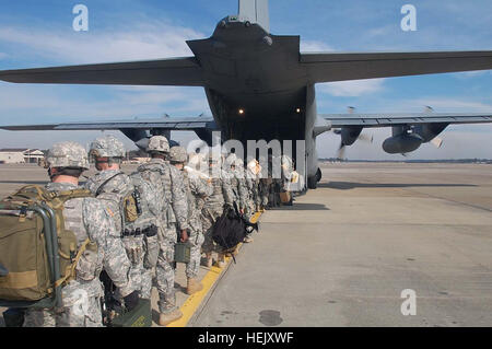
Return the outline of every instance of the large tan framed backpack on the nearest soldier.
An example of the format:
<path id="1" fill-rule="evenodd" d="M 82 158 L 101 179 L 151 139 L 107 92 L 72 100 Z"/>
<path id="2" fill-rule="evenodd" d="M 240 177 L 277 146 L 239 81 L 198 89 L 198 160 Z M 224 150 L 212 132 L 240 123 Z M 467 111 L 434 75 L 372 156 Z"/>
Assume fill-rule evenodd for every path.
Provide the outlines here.
<path id="1" fill-rule="evenodd" d="M 61 287 L 75 277 L 80 257 L 97 251 L 89 239 L 78 248 L 65 229 L 65 202 L 85 197 L 91 191 L 28 185 L 0 201 L 0 306 L 61 306 Z"/>

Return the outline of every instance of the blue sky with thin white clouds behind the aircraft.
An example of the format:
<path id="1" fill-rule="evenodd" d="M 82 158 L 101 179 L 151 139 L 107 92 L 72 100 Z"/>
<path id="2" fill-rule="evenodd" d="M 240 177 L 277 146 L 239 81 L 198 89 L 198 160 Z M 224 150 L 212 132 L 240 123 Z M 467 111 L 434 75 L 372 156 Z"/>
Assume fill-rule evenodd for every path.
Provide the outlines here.
<path id="1" fill-rule="evenodd" d="M 90 31 L 74 32 L 72 8 L 89 8 Z M 417 32 L 402 32 L 400 9 L 417 8 Z M 189 56 L 186 39 L 208 37 L 218 21 L 237 12 L 236 0 L 0 0 L 0 69 Z M 304 51 L 415 51 L 492 49 L 490 0 L 270 0 L 271 32 L 301 35 Z M 317 85 L 319 113 L 492 112 L 492 72 L 376 79 Z M 0 124 L 96 120 L 210 114 L 202 89 L 16 85 L 0 82 Z M 425 144 L 412 159 L 492 158 L 492 126 L 452 126 L 444 146 Z M 365 130 L 351 159 L 400 159 L 380 149 L 389 129 Z M 47 148 L 54 140 L 89 142 L 98 132 L 0 131 L 0 147 Z M 119 135 L 119 133 L 116 133 Z M 122 135 L 120 136 L 122 137 Z M 190 133 L 174 138 L 189 140 Z M 323 156 L 339 138 L 318 139 Z M 131 147 L 131 142 L 127 141 Z"/>

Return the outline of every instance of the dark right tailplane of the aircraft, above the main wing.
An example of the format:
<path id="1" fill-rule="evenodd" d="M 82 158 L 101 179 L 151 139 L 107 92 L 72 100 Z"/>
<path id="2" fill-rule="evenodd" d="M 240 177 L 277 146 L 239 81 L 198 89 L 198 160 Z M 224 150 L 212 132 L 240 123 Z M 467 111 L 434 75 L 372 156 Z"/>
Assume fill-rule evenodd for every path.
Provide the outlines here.
<path id="1" fill-rule="evenodd" d="M 492 51 L 301 54 L 309 82 L 492 69 Z"/>

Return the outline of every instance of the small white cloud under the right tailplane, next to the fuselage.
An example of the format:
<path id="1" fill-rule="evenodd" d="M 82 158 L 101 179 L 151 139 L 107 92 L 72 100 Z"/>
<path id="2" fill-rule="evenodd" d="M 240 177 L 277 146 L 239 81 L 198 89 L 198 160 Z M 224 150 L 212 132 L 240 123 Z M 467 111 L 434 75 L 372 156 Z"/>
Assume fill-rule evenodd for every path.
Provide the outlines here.
<path id="1" fill-rule="evenodd" d="M 383 91 L 385 79 L 338 81 L 319 85 L 319 91 L 337 97 L 356 97 Z"/>

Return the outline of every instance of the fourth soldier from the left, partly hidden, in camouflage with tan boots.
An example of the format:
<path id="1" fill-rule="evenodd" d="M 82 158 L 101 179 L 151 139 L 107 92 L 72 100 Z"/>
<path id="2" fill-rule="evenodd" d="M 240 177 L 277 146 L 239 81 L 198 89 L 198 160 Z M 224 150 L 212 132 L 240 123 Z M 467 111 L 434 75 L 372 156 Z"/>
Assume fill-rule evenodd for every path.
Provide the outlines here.
<path id="1" fill-rule="evenodd" d="M 203 243 L 203 228 L 201 224 L 201 210 L 207 197 L 212 195 L 212 181 L 201 178 L 196 172 L 184 171 L 188 161 L 188 154 L 183 147 L 173 147 L 169 152 L 171 164 L 183 172 L 188 200 L 188 224 L 190 235 L 188 243 L 191 245 L 190 261 L 186 266 L 187 287 L 186 293 L 194 294 L 203 289 L 197 280 L 200 267 L 201 245 Z M 185 242 L 181 239 L 181 242 Z"/>

